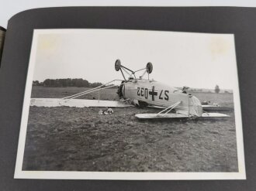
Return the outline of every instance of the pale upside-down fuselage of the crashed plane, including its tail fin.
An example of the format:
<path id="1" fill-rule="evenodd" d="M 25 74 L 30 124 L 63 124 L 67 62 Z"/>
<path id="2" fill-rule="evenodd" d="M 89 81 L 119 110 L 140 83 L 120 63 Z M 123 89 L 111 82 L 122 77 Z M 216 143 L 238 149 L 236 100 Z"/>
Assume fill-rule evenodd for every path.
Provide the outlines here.
<path id="1" fill-rule="evenodd" d="M 176 111 L 188 115 L 202 115 L 202 105 L 198 98 L 154 80 L 133 79 L 124 82 L 119 88 L 119 95 L 124 99 L 130 99 L 137 106 L 170 107 L 181 101 L 181 104 L 175 107 Z"/>

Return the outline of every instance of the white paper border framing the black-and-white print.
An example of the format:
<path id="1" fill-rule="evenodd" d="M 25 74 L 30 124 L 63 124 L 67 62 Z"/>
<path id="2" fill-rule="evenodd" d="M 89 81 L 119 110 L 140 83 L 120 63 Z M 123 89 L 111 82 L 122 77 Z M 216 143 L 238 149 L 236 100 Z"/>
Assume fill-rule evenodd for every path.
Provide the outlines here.
<path id="1" fill-rule="evenodd" d="M 24 171 L 22 162 L 26 143 L 26 130 L 29 118 L 29 104 L 33 84 L 33 72 L 36 64 L 36 47 L 40 34 L 53 33 L 81 33 L 84 30 L 119 30 L 124 29 L 34 29 L 31 46 L 29 67 L 26 77 L 26 89 L 22 107 L 21 127 L 19 131 L 19 145 L 16 158 L 15 179 L 126 179 L 126 180 L 193 180 L 193 179 L 246 179 L 244 163 L 243 129 L 240 111 L 240 94 L 237 73 L 236 88 L 234 94 L 234 114 L 237 136 L 237 163 L 238 172 L 75 172 L 75 171 Z M 127 29 L 125 29 L 127 30 Z M 150 31 L 150 30 L 147 30 Z M 161 31 L 156 31 L 161 32 Z M 164 31 L 165 32 L 165 31 Z M 195 32 L 185 32 L 195 33 Z M 200 32 L 196 32 L 200 33 Z M 207 33 L 212 34 L 212 33 Z M 216 34 L 216 33 L 213 33 Z M 220 34 L 220 33 L 218 33 Z M 227 34 L 225 34 L 227 35 Z M 234 34 L 228 34 L 234 37 Z M 234 41 L 235 43 L 235 41 Z M 235 46 L 235 44 L 234 44 Z"/>

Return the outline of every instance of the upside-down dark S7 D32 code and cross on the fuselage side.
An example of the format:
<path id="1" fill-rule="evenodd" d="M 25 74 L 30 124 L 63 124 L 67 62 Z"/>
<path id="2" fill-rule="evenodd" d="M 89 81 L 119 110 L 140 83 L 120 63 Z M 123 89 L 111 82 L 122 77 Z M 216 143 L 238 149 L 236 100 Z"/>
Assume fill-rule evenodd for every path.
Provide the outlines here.
<path id="1" fill-rule="evenodd" d="M 158 96 L 157 90 L 154 90 L 154 86 L 152 87 L 152 90 L 148 90 L 147 88 L 144 87 L 137 87 L 137 95 L 140 97 L 145 97 L 145 99 L 150 96 L 152 98 L 152 101 L 154 101 L 154 98 L 158 96 L 160 100 L 169 100 L 169 90 L 161 90 L 160 94 Z"/>

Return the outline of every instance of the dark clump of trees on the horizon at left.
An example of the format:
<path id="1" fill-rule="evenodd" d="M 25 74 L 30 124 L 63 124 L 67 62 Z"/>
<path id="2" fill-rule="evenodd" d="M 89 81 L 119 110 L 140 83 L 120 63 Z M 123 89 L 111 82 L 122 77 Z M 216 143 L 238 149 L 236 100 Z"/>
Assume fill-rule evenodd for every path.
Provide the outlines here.
<path id="1" fill-rule="evenodd" d="M 33 86 L 43 87 L 99 87 L 101 85 L 102 83 L 90 83 L 88 80 L 84 80 L 82 78 L 47 79 L 43 82 L 38 80 L 33 81 Z"/>

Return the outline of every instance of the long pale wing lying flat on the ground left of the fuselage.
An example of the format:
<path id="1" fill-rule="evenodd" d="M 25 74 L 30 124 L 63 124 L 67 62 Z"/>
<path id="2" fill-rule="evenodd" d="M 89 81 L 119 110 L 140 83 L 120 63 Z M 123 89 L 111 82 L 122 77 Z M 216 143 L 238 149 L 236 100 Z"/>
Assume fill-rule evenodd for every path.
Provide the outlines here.
<path id="1" fill-rule="evenodd" d="M 31 98 L 30 106 L 37 107 L 133 107 L 121 101 L 102 101 L 102 100 L 85 100 L 85 99 L 68 99 L 61 98 Z"/>

